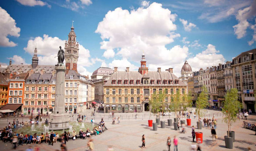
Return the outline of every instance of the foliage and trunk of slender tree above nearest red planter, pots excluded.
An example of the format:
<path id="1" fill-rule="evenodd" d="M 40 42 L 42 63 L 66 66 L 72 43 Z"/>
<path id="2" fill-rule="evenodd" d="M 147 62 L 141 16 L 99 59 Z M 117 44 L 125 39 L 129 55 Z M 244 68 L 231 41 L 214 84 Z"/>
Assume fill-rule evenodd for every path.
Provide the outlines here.
<path id="1" fill-rule="evenodd" d="M 208 94 L 207 88 L 205 86 L 202 87 L 202 91 L 197 98 L 197 115 L 198 115 L 198 122 L 200 122 L 201 116 L 203 116 L 203 109 L 208 105 Z"/>

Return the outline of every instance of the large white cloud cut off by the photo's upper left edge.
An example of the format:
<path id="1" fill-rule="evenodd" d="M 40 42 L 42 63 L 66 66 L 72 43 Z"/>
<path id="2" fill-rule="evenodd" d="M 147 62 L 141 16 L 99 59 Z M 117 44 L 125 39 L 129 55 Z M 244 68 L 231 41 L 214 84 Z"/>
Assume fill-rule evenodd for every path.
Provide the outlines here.
<path id="1" fill-rule="evenodd" d="M 4 47 L 14 47 L 15 44 L 12 41 L 9 41 L 7 36 L 20 36 L 20 28 L 16 27 L 15 20 L 0 7 L 0 46 Z"/>

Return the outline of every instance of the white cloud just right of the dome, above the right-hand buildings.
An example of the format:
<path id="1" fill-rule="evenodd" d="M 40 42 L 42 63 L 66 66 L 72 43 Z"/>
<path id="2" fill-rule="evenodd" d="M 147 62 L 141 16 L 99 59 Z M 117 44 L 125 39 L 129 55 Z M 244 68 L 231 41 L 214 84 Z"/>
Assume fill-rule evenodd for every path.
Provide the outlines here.
<path id="1" fill-rule="evenodd" d="M 193 71 L 225 62 L 223 55 L 217 53 L 219 53 L 219 51 L 216 50 L 215 46 L 208 44 L 206 50 L 198 53 L 195 57 L 187 59 L 187 62 L 193 68 Z"/>

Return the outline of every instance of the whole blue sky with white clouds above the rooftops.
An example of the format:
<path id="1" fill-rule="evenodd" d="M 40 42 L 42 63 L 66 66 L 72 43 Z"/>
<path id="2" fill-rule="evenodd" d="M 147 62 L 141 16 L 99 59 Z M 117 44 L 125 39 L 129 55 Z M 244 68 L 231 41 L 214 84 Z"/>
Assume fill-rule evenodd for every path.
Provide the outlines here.
<path id="1" fill-rule="evenodd" d="M 78 71 L 99 66 L 137 70 L 145 53 L 150 70 L 187 59 L 194 71 L 256 48 L 255 0 L 8 0 L 0 1 L 0 63 L 55 64 L 74 21 Z M 8 38 L 8 39 L 7 39 Z"/>

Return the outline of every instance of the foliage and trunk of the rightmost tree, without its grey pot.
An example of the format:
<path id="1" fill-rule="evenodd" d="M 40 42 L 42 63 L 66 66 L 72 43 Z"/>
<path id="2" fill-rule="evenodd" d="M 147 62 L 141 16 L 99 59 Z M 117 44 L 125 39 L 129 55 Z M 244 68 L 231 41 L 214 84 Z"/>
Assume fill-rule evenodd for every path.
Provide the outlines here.
<path id="1" fill-rule="evenodd" d="M 231 125 L 236 121 L 236 114 L 239 113 L 242 104 L 238 101 L 238 91 L 236 88 L 230 89 L 225 95 L 222 113 L 225 115 L 224 122 L 227 123 L 228 131 L 231 131 Z M 229 137 L 229 133 L 228 133 Z"/>

